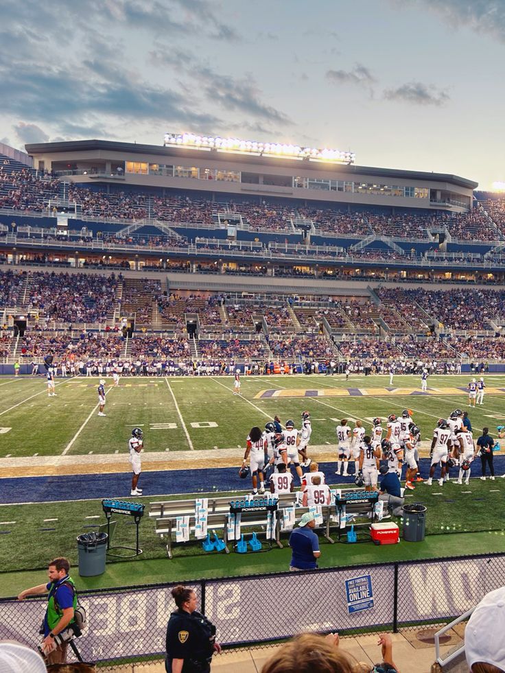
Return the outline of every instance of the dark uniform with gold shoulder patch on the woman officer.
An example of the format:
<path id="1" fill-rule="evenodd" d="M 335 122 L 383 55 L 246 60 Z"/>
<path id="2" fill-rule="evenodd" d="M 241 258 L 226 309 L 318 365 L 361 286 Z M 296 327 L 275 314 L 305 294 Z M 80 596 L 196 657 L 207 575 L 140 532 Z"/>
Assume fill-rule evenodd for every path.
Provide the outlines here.
<path id="1" fill-rule="evenodd" d="M 207 617 L 176 610 L 167 624 L 167 672 L 172 671 L 172 659 L 184 659 L 183 673 L 209 673 L 214 643 L 215 626 Z"/>

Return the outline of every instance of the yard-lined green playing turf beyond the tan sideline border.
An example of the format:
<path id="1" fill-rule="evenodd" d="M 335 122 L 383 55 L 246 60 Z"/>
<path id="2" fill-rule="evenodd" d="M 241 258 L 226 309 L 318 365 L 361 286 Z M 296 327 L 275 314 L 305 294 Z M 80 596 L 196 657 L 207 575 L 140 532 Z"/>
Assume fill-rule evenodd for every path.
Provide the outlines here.
<path id="1" fill-rule="evenodd" d="M 279 414 L 281 420 L 294 418 L 307 409 L 312 414 L 312 444 L 335 443 L 335 425 L 340 418 L 385 418 L 391 412 L 410 408 L 421 427 L 424 440 L 441 416 L 447 417 L 456 407 L 467 409 L 465 392 L 468 376 L 431 377 L 430 397 L 402 394 L 402 390 L 419 390 L 419 377 L 397 376 L 394 387 L 386 390 L 386 376 L 344 377 L 244 377 L 242 397 L 233 396 L 231 377 L 202 379 L 121 379 L 119 388 L 107 387 L 106 418 L 99 418 L 96 379 L 59 380 L 58 397 L 48 399 L 44 379 L 28 377 L 0 382 L 0 422 L 2 456 L 61 456 L 100 454 L 124 451 L 129 429 L 141 425 L 147 451 L 187 449 L 223 449 L 244 446 L 250 427 Z M 488 388 L 505 385 L 505 376 L 486 376 Z M 373 394 L 357 397 L 267 397 L 257 398 L 264 390 L 281 395 L 292 391 L 331 389 L 369 390 Z M 380 390 L 379 394 L 376 391 Z M 384 392 L 382 392 L 384 391 Z M 451 392 L 451 394 L 446 394 Z M 484 425 L 495 429 L 505 421 L 504 396 L 487 394 L 481 408 L 471 410 L 476 432 Z"/>

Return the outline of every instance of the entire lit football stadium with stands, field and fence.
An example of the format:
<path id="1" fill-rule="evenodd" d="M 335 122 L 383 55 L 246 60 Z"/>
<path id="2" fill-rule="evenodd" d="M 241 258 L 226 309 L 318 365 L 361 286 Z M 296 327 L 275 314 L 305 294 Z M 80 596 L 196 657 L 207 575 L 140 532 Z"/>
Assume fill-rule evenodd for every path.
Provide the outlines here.
<path id="1" fill-rule="evenodd" d="M 279 143 L 166 134 L 159 146 L 0 149 L 0 526 L 21 552 L 14 560 L 9 544 L 1 550 L 3 632 L 24 619 L 7 597 L 30 585 L 56 548 L 76 565 L 76 536 L 108 530 L 105 574 L 84 571 L 79 585 L 91 613 L 105 601 L 117 617 L 107 634 L 97 619 L 80 639 L 88 661 L 158 670 L 169 588 L 180 581 L 198 588 L 218 624 L 235 657 L 226 670 L 242 665 L 233 662 L 244 646 L 301 630 L 338 628 L 351 642 L 386 629 L 410 647 L 423 633 L 424 663 L 411 671 L 457 649 L 457 627 L 436 652 L 433 634 L 469 611 L 482 587 L 500 585 L 505 484 L 482 480 L 479 460 L 466 487 L 458 466 L 438 487 L 438 473 L 432 488 L 422 481 L 438 418 L 469 409 L 475 439 L 484 427 L 497 438 L 504 420 L 504 202 L 467 178 L 361 167 L 349 152 Z M 49 371 L 56 382 L 46 399 Z M 477 379 L 485 394 L 475 407 Z M 347 418 L 368 433 L 379 417 L 387 432 L 388 417 L 405 408 L 420 429 L 419 482 L 406 503 L 425 506 L 426 536 L 404 541 L 406 519 L 384 511 L 403 539 L 376 546 L 366 512 L 346 520 L 333 504 L 362 493 L 358 461 L 340 475 L 335 428 Z M 229 528 L 230 501 L 249 488 L 238 471 L 251 427 L 277 417 L 285 432 L 291 418 L 301 428 L 304 414 L 307 451 L 332 494 L 317 512 L 323 554 L 310 581 L 324 595 L 365 578 L 373 610 L 351 611 L 340 589 L 324 611 L 318 601 L 290 603 L 299 594 L 284 572 L 292 523 L 279 513 L 269 534 L 261 489 L 248 497 L 259 498 L 263 515 L 242 508 L 242 534 Z M 134 488 L 131 497 L 133 427 L 144 438 L 143 494 Z M 500 442 L 495 449 L 500 477 Z M 279 496 L 279 512 L 296 504 L 298 520 L 307 508 L 293 475 L 295 493 Z M 109 515 L 134 515 L 131 502 L 145 507 L 134 547 L 124 517 L 108 528 L 103 499 Z M 198 536 L 197 503 L 209 508 L 209 537 Z M 354 524 L 364 544 L 349 545 Z M 248 556 L 235 553 L 244 537 Z M 253 540 L 270 554 L 253 554 Z M 473 571 L 478 579 L 464 589 Z M 255 606 L 258 575 L 268 595 L 287 597 L 286 622 Z M 143 622 L 144 610 L 156 624 Z M 28 628 L 21 641 L 34 646 Z"/>

